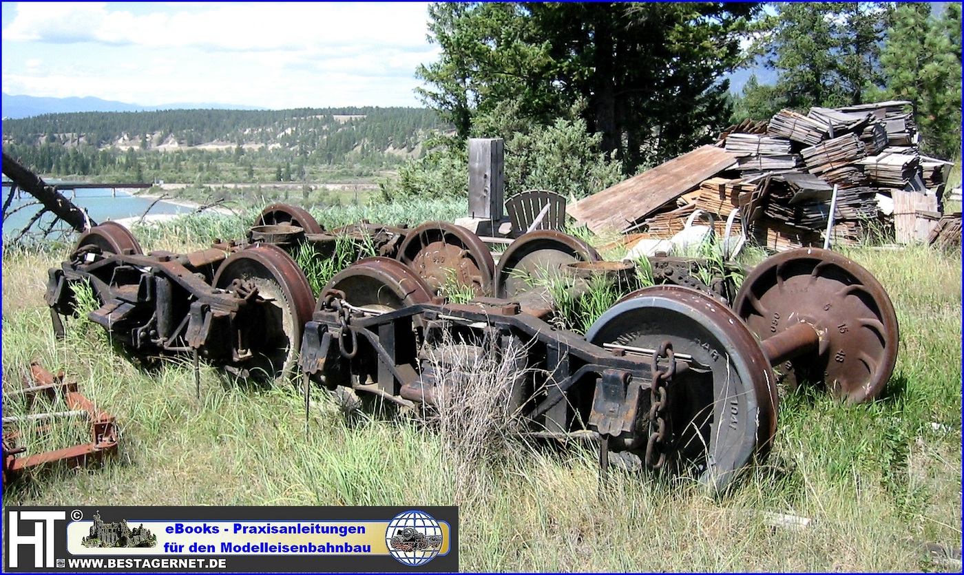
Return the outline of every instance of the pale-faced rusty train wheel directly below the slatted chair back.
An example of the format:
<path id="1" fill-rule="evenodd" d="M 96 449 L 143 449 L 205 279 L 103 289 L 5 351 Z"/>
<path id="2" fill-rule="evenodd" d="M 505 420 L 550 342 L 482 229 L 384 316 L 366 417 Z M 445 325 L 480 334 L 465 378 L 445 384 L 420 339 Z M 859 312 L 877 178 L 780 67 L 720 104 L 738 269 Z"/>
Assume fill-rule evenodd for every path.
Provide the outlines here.
<path id="1" fill-rule="evenodd" d="M 554 230 L 525 233 L 505 250 L 495 268 L 496 297 L 517 298 L 539 288 L 553 276 L 563 275 L 566 265 L 601 260 L 596 250 L 581 239 Z"/>

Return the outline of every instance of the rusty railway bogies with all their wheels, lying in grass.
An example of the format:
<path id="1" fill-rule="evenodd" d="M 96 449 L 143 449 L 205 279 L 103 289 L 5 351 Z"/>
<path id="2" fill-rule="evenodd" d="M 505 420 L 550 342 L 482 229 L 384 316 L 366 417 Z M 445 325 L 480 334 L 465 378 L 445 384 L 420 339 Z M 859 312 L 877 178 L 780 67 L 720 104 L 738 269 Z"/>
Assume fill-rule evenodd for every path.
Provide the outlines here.
<path id="1" fill-rule="evenodd" d="M 342 236 L 378 255 L 336 273 L 316 298 L 287 251 L 308 243 L 329 258 Z M 144 254 L 120 225 L 97 226 L 50 269 L 45 298 L 63 335 L 61 316 L 76 310 L 71 285 L 86 281 L 100 304 L 90 319 L 129 352 L 192 354 L 269 381 L 298 371 L 306 393 L 310 382 L 433 404 L 461 381 L 448 374 L 471 369 L 446 359 L 453 347 L 485 365 L 513 361 L 519 376 L 508 397 L 523 434 L 589 438 L 603 469 L 610 452 L 628 452 L 714 489 L 770 448 L 774 368 L 848 402 L 878 396 L 894 370 L 897 316 L 887 293 L 834 252 L 764 260 L 732 306 L 707 290 L 658 285 L 630 292 L 584 336 L 547 321 L 550 305 L 533 278 L 605 263 L 564 233 L 523 234 L 495 264 L 479 237 L 449 223 L 328 232 L 302 208 L 270 205 L 246 239 L 188 254 Z M 452 281 L 474 297 L 440 296 Z"/>

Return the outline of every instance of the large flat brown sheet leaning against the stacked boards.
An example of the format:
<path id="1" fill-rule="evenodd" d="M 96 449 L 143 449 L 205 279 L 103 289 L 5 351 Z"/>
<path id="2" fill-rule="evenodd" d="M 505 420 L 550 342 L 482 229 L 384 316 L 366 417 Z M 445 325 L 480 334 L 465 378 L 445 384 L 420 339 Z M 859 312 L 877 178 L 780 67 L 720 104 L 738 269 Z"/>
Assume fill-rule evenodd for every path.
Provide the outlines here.
<path id="1" fill-rule="evenodd" d="M 607 228 L 624 232 L 646 219 L 660 205 L 699 187 L 736 164 L 736 155 L 722 148 L 701 146 L 652 170 L 609 186 L 566 209 L 569 215 L 602 233 Z"/>

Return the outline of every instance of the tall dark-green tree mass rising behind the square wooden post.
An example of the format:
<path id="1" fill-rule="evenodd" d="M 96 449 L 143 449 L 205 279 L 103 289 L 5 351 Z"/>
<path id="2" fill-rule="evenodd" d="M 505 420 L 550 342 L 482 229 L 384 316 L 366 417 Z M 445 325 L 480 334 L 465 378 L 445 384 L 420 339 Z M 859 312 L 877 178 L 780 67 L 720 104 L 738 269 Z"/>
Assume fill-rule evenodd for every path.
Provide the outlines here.
<path id="1" fill-rule="evenodd" d="M 590 133 L 628 172 L 707 142 L 729 120 L 737 32 L 751 3 L 435 4 L 440 60 L 418 68 L 423 101 L 469 136 L 511 107 L 523 126 L 567 118 L 579 100 Z M 512 134 L 488 134 L 509 137 Z"/>

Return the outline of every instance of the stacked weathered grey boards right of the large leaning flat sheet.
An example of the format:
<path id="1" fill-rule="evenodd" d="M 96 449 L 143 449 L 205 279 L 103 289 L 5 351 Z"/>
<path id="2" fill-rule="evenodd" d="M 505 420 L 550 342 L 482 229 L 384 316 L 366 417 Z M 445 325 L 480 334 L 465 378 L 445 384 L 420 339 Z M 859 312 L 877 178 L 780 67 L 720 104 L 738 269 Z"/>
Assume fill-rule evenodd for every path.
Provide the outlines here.
<path id="1" fill-rule="evenodd" d="M 770 170 L 762 193 L 743 224 L 767 247 L 783 249 L 817 241 L 825 233 L 831 196 L 837 189 L 832 239 L 856 242 L 871 229 L 893 227 L 898 242 L 926 241 L 940 217 L 935 199 L 943 191 L 951 162 L 922 156 L 909 113 L 910 102 L 814 107 L 804 116 L 782 110 L 768 123 L 766 137 L 786 138 L 800 165 Z M 731 133 L 724 146 L 745 146 Z M 767 172 L 766 170 L 763 171 Z M 871 222 L 873 223 L 871 225 Z"/>

